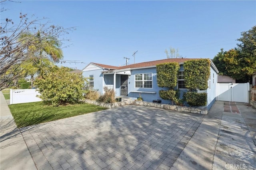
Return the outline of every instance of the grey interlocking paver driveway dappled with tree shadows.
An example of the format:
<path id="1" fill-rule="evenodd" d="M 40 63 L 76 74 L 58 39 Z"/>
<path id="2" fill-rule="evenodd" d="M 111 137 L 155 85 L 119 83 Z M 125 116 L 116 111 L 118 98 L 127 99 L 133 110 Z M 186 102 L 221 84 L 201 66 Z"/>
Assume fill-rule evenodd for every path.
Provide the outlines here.
<path id="1" fill-rule="evenodd" d="M 21 131 L 39 170 L 169 169 L 202 117 L 126 105 Z"/>

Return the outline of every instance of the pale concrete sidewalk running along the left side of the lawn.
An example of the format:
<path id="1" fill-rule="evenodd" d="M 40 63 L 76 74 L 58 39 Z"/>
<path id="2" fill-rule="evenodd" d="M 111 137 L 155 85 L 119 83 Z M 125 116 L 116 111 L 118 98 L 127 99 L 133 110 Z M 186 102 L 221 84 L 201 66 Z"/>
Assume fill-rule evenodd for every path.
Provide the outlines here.
<path id="1" fill-rule="evenodd" d="M 0 169 L 37 170 L 2 91 L 0 91 Z"/>

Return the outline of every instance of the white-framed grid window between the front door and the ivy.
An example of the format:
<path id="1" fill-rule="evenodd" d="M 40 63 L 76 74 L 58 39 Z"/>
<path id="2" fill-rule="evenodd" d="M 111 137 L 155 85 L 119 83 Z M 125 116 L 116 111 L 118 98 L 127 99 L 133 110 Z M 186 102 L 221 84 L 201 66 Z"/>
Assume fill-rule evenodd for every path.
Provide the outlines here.
<path id="1" fill-rule="evenodd" d="M 152 73 L 135 74 L 136 88 L 152 88 Z"/>

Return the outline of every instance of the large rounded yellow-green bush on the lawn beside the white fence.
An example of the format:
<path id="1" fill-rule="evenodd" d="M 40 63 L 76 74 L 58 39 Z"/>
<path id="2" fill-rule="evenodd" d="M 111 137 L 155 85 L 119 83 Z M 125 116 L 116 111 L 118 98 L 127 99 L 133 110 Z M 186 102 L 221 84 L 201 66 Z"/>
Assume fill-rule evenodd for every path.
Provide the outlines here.
<path id="1" fill-rule="evenodd" d="M 54 66 L 44 75 L 44 79 L 36 79 L 34 85 L 39 89 L 39 97 L 44 103 L 58 106 L 78 103 L 83 99 L 83 94 L 86 92 L 85 81 L 86 79 L 80 74 L 68 73 L 68 69 L 64 67 Z"/>

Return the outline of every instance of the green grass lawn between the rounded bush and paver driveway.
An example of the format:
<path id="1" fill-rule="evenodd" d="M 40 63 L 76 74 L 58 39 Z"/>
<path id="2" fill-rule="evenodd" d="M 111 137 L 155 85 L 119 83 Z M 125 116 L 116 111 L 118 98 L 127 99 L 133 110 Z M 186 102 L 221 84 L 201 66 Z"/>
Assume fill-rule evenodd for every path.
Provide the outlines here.
<path id="1" fill-rule="evenodd" d="M 8 106 L 18 128 L 106 109 L 88 103 L 52 107 L 42 102 L 33 102 Z"/>

